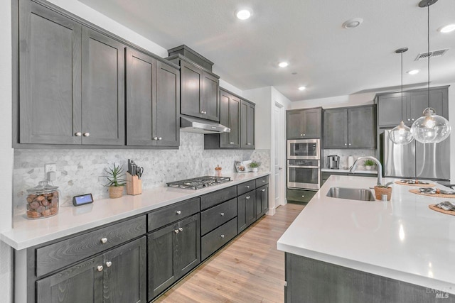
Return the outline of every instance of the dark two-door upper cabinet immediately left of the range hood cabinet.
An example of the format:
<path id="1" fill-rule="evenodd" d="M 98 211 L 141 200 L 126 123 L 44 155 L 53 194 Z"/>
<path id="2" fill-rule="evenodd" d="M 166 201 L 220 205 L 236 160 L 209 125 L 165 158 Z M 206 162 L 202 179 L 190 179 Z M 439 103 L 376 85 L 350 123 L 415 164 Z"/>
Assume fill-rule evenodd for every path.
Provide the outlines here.
<path id="1" fill-rule="evenodd" d="M 127 49 L 127 145 L 178 146 L 180 75 Z"/>

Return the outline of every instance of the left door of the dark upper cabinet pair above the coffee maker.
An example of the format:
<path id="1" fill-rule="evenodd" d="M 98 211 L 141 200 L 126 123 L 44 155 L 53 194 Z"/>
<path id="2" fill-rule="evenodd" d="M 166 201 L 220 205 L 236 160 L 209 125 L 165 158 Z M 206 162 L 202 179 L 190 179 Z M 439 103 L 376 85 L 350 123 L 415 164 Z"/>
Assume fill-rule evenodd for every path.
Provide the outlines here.
<path id="1" fill-rule="evenodd" d="M 326 109 L 323 123 L 323 148 L 347 148 L 348 109 Z"/>

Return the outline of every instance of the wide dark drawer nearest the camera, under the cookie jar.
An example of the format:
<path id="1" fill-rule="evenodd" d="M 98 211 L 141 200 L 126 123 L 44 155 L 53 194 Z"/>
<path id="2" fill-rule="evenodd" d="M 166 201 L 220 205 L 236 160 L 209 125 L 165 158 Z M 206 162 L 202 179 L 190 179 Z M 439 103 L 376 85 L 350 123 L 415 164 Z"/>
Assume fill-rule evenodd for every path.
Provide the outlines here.
<path id="1" fill-rule="evenodd" d="M 36 275 L 40 277 L 145 233 L 145 216 L 139 216 L 38 248 L 36 250 Z"/>

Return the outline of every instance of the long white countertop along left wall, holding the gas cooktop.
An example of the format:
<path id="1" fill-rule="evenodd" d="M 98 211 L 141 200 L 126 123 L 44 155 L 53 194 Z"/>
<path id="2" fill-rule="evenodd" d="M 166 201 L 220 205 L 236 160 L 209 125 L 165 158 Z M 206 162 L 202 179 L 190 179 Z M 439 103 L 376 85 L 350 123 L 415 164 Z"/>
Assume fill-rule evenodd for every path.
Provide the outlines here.
<path id="1" fill-rule="evenodd" d="M 266 175 L 269 172 L 223 174 L 224 177 L 231 177 L 231 181 L 205 189 L 158 187 L 144 190 L 136 196 L 99 199 L 83 206 L 60 204 L 58 214 L 49 218 L 33 220 L 27 219 L 26 214 L 14 216 L 13 228 L 1 233 L 0 240 L 21 250 Z"/>

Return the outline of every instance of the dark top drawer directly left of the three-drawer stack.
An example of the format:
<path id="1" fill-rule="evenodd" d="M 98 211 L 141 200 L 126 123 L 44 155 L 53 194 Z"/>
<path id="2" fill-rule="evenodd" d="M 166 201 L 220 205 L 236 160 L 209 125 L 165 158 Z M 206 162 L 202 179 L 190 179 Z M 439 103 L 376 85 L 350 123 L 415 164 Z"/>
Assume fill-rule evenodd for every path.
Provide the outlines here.
<path id="1" fill-rule="evenodd" d="M 199 197 L 164 206 L 147 214 L 148 231 L 196 214 L 199 211 Z"/>

